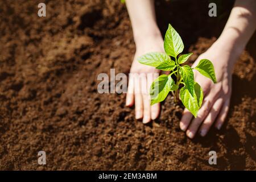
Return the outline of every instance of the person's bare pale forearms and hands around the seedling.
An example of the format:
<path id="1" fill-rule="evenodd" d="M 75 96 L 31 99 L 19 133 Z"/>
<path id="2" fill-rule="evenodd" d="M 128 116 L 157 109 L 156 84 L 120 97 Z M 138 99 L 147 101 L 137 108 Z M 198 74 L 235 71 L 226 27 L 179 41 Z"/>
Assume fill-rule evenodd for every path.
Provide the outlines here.
<path id="1" fill-rule="evenodd" d="M 131 73 L 159 73 L 158 69 L 138 63 L 138 56 L 148 52 L 164 52 L 163 38 L 156 24 L 153 0 L 126 0 L 127 10 L 133 27 L 136 52 Z M 182 21 L 182 20 L 181 20 Z M 171 22 L 170 22 L 171 23 Z M 201 59 L 212 61 L 217 77 L 217 84 L 213 84 L 198 72 L 194 72 L 195 81 L 200 84 L 204 92 L 204 101 L 198 111 L 197 118 L 185 109 L 180 121 L 180 129 L 189 138 L 196 133 L 201 137 L 207 135 L 211 126 L 221 129 L 228 114 L 232 93 L 232 69 L 241 55 L 256 28 L 256 1 L 237 0 L 228 22 L 220 38 L 192 65 L 196 67 Z M 192 32 L 193 33 L 193 32 Z M 144 39 L 144 38 L 147 39 Z M 148 123 L 159 117 L 160 104 L 150 106 L 150 96 L 140 90 L 151 85 L 152 79 L 143 76 L 142 81 L 129 82 L 126 96 L 126 106 L 135 105 L 135 118 Z"/>

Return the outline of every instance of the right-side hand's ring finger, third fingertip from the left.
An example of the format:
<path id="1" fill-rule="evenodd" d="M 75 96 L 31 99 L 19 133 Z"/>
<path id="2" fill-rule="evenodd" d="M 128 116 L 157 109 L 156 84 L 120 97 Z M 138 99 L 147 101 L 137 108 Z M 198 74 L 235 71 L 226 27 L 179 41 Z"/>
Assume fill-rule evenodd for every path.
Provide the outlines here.
<path id="1" fill-rule="evenodd" d="M 207 117 L 204 119 L 204 122 L 200 128 L 200 135 L 202 137 L 204 137 L 208 133 L 210 127 L 217 118 L 218 113 L 220 113 L 222 104 L 223 98 L 218 98 L 217 101 L 213 104 L 212 109 L 210 110 Z"/>

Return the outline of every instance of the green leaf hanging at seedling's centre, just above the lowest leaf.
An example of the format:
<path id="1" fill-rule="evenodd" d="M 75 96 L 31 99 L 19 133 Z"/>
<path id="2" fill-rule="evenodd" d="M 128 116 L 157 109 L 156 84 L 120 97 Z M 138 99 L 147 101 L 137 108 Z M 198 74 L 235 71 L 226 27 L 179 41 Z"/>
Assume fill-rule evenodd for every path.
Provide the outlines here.
<path id="1" fill-rule="evenodd" d="M 193 96 L 194 92 L 194 73 L 191 67 L 184 65 L 180 67 L 180 74 L 183 78 L 183 82 L 188 89 L 189 93 Z"/>

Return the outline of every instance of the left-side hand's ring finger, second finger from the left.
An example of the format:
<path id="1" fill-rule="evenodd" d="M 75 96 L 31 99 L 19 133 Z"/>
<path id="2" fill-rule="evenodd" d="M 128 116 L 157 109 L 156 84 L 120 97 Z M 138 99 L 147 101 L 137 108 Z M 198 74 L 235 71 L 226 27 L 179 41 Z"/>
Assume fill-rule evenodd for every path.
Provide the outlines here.
<path id="1" fill-rule="evenodd" d="M 135 77 L 134 85 L 135 85 L 135 118 L 142 119 L 143 117 L 143 100 L 141 94 L 141 79 L 139 76 Z"/>

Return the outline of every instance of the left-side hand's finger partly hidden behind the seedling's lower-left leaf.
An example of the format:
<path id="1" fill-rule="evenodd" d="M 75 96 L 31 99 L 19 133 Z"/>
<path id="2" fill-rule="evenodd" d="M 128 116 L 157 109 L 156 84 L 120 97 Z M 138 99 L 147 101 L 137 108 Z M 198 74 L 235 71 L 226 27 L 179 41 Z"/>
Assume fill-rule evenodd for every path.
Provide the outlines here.
<path id="1" fill-rule="evenodd" d="M 150 90 L 150 86 L 152 84 L 152 82 L 159 76 L 158 73 L 152 73 L 152 74 L 147 74 L 147 90 L 148 90 L 148 95 L 149 90 Z M 160 103 L 156 103 L 154 105 L 151 106 L 150 108 L 151 111 L 151 119 L 156 119 L 158 118 L 159 114 L 160 114 Z"/>

